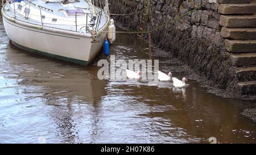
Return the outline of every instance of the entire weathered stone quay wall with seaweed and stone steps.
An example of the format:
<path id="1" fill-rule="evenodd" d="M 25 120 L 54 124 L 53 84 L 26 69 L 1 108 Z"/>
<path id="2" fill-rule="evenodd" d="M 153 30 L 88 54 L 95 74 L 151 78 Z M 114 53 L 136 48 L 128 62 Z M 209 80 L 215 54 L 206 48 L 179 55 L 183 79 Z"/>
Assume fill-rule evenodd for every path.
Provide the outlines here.
<path id="1" fill-rule="evenodd" d="M 152 30 L 208 0 L 151 0 Z M 170 52 L 226 90 L 227 95 L 256 95 L 256 1 L 217 0 L 152 32 L 155 47 Z M 110 11 L 127 14 L 142 9 L 143 0 L 112 0 Z M 112 16 L 131 30 L 138 30 L 142 12 Z M 147 37 L 145 35 L 145 37 Z"/>

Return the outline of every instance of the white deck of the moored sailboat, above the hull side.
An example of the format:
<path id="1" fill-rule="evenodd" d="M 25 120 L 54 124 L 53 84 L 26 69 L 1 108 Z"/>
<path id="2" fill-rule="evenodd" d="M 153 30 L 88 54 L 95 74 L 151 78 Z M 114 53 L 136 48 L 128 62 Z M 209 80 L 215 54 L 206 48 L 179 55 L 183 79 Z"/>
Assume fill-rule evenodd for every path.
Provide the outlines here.
<path id="1" fill-rule="evenodd" d="M 97 31 L 104 27 L 106 22 L 108 22 L 108 15 L 100 8 L 89 5 L 90 4 L 85 1 L 77 1 L 63 5 L 57 1 L 46 3 L 42 0 L 26 0 L 11 4 L 7 3 L 3 8 L 3 12 L 11 18 L 15 17 L 16 20 L 26 23 L 39 26 L 43 24 L 45 27 L 90 33 L 93 28 L 96 28 Z M 94 20 L 95 26 L 90 27 L 89 23 L 93 16 L 96 16 L 96 20 Z"/>

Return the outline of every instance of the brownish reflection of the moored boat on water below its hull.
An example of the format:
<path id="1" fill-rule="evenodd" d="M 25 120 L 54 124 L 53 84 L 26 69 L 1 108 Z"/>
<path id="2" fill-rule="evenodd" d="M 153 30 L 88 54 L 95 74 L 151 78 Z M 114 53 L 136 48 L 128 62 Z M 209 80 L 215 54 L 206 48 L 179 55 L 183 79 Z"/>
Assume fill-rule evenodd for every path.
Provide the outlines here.
<path id="1" fill-rule="evenodd" d="M 94 66 L 81 66 L 42 57 L 20 50 L 11 41 L 7 47 L 6 58 L 11 60 L 8 61 L 9 70 L 19 70 L 14 77 L 19 81 L 18 84 L 41 87 L 42 90 L 38 91 L 46 92 L 44 98 L 82 96 L 85 102 L 97 102 L 106 95 L 104 90 L 106 82 L 97 79 L 97 70 Z M 77 76 L 72 76 L 72 74 L 77 74 Z M 62 91 L 66 89 L 67 91 Z"/>

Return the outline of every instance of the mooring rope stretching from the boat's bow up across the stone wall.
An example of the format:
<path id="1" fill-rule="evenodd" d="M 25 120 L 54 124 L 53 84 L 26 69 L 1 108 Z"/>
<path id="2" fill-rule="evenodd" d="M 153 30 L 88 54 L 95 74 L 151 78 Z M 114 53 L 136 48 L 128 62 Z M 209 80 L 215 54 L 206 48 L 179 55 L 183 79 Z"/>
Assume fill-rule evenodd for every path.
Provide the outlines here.
<path id="1" fill-rule="evenodd" d="M 164 26 L 166 26 L 167 24 L 170 24 L 180 18 L 183 18 L 183 16 L 187 15 L 187 14 L 190 14 L 191 12 L 193 11 L 196 11 L 197 9 L 200 9 L 200 7 L 204 6 L 204 5 L 207 5 L 209 2 L 207 3 L 204 3 L 203 5 L 200 5 L 198 7 L 196 7 L 195 9 L 191 10 L 191 11 L 188 11 L 187 13 L 181 15 L 181 16 L 178 16 L 177 18 L 173 19 L 173 20 L 170 20 L 169 22 L 163 24 L 162 26 L 159 26 L 159 27 L 156 27 L 154 28 L 153 30 L 150 30 L 150 31 L 116 31 L 116 33 L 150 33 L 150 32 L 154 32 L 156 30 L 158 30 L 159 28 L 162 28 Z M 111 32 L 111 31 L 101 31 L 101 32 Z"/>

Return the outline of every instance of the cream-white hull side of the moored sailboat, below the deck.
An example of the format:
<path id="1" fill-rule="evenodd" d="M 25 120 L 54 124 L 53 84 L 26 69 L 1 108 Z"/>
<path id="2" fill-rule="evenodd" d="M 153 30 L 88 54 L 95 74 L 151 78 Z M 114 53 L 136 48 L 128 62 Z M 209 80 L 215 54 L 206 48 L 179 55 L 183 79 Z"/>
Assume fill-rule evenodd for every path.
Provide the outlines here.
<path id="1" fill-rule="evenodd" d="M 106 32 L 97 36 L 98 43 L 91 43 L 92 37 L 46 31 L 38 27 L 24 26 L 3 16 L 3 24 L 10 40 L 20 48 L 77 64 L 87 65 L 104 43 Z"/>

